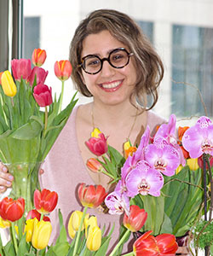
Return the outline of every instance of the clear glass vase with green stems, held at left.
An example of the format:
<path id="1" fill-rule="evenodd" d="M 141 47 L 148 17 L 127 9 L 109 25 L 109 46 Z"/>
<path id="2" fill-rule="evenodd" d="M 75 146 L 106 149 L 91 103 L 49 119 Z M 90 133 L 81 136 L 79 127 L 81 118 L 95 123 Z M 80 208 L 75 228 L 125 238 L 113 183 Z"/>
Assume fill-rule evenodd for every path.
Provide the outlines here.
<path id="1" fill-rule="evenodd" d="M 8 167 L 9 173 L 14 176 L 9 197 L 13 199 L 24 198 L 26 201 L 26 212 L 32 210 L 34 191 L 40 189 L 38 172 L 41 168 L 41 164 L 41 162 L 4 163 L 4 165 Z"/>

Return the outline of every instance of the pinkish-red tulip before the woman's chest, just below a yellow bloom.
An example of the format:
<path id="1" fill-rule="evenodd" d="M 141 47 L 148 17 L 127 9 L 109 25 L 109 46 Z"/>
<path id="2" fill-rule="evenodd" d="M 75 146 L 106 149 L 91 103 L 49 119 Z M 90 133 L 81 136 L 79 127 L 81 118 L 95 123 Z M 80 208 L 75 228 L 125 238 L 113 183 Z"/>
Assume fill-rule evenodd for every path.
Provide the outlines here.
<path id="1" fill-rule="evenodd" d="M 89 141 L 86 142 L 86 145 L 89 150 L 97 156 L 107 153 L 108 150 L 107 138 L 103 133 L 100 133 L 98 137 L 90 137 Z"/>

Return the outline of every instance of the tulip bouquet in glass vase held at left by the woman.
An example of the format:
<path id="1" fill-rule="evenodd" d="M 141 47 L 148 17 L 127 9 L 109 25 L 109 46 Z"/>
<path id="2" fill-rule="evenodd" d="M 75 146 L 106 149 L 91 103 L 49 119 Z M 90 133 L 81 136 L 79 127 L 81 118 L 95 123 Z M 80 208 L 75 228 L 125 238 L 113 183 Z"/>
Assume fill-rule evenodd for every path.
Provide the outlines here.
<path id="1" fill-rule="evenodd" d="M 14 176 L 10 195 L 25 199 L 26 212 L 32 209 L 33 193 L 39 188 L 40 165 L 77 102 L 73 96 L 61 110 L 64 83 L 72 73 L 70 62 L 55 62 L 62 86 L 60 96 L 53 99 L 51 87 L 44 84 L 48 71 L 41 66 L 45 59 L 45 50 L 34 49 L 32 61 L 12 60 L 13 77 L 7 70 L 0 80 L 0 160 Z"/>

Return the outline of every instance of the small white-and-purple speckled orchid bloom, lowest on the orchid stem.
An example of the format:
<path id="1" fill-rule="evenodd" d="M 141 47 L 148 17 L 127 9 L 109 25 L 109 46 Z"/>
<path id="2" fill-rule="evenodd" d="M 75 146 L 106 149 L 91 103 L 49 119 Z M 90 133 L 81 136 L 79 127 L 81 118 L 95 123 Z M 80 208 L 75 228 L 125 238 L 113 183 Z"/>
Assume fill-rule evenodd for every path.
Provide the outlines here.
<path id="1" fill-rule="evenodd" d="M 107 195 L 105 204 L 109 209 L 110 214 L 129 214 L 130 212 L 130 199 L 124 193 L 119 193 L 118 190 L 114 190 Z"/>

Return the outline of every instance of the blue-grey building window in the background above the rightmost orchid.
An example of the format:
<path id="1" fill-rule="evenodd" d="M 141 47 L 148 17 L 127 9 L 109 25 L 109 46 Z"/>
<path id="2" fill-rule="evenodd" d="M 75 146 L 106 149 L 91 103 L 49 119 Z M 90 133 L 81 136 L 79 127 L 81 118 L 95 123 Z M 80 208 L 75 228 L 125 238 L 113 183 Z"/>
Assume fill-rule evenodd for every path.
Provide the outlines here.
<path id="1" fill-rule="evenodd" d="M 213 28 L 173 26 L 172 42 L 172 113 L 178 116 L 201 115 L 204 106 L 213 116 Z"/>

